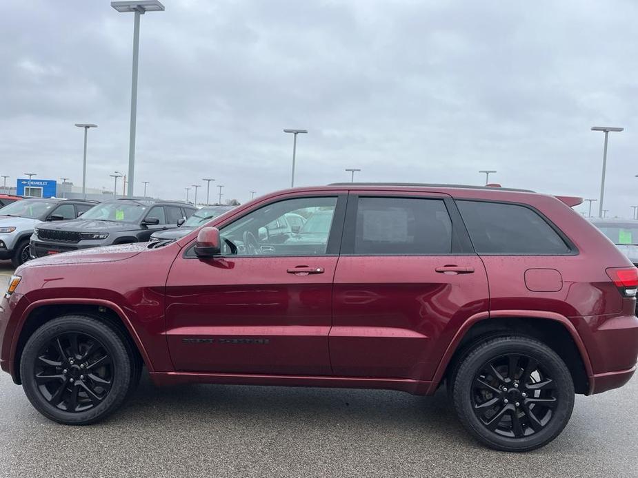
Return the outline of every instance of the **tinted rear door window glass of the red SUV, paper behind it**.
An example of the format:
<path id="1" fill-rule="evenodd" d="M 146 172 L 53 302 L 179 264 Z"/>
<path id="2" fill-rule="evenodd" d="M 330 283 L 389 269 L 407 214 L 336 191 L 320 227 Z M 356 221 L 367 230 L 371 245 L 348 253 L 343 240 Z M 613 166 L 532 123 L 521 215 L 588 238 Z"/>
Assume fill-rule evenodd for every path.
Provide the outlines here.
<path id="1" fill-rule="evenodd" d="M 354 252 L 451 253 L 452 221 L 445 203 L 438 199 L 359 198 Z"/>

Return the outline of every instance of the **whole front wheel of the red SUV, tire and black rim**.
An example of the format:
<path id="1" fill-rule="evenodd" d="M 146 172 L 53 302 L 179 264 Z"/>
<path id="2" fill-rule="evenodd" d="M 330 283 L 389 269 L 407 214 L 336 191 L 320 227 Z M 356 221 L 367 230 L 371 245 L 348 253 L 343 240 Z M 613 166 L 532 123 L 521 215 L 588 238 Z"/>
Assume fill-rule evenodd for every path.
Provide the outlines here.
<path id="1" fill-rule="evenodd" d="M 46 322 L 27 341 L 22 386 L 45 417 L 88 425 L 108 417 L 130 396 L 141 370 L 135 360 L 126 340 L 108 324 L 65 315 Z"/>

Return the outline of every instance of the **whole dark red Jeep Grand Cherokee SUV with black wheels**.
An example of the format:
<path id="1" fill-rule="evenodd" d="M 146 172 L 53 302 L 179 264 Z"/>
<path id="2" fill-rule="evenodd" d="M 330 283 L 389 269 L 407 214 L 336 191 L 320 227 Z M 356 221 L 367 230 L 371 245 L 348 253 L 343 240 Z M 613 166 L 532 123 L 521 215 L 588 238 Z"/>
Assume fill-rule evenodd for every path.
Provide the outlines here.
<path id="1" fill-rule="evenodd" d="M 636 368 L 638 269 L 577 203 L 337 184 L 264 196 L 177 241 L 33 260 L 0 307 L 1 366 L 64 424 L 121 406 L 142 364 L 158 385 L 445 382 L 477 439 L 532 450 L 575 393 Z M 281 233 L 286 214 L 313 227 Z"/>

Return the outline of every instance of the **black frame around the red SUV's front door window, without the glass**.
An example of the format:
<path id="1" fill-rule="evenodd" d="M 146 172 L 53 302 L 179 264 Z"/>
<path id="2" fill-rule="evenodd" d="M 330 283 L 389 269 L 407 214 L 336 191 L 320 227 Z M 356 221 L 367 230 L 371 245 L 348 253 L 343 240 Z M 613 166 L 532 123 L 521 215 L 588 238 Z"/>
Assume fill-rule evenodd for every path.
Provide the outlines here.
<path id="1" fill-rule="evenodd" d="M 215 256 L 212 258 L 200 259 L 195 256 L 195 244 L 197 243 L 197 239 L 192 241 L 192 245 L 186 247 L 185 251 L 182 253 L 182 258 L 184 259 L 198 259 L 198 260 L 218 260 L 218 259 L 252 259 L 252 258 L 303 258 L 303 257 L 334 257 L 339 256 L 339 251 L 341 249 L 341 238 L 343 236 L 343 225 L 346 217 L 346 202 L 348 200 L 348 194 L 308 194 L 303 196 L 288 196 L 288 197 L 278 197 L 273 198 L 273 200 L 260 204 L 258 207 L 254 209 L 250 209 L 246 211 L 245 214 L 234 218 L 231 222 L 226 222 L 223 227 L 228 227 L 238 220 L 241 220 L 248 216 L 248 214 L 252 214 L 255 211 L 259 211 L 263 207 L 268 207 L 277 202 L 282 202 L 286 200 L 294 200 L 294 199 L 310 199 L 310 198 L 337 198 L 337 204 L 335 205 L 335 214 L 332 216 L 332 225 L 330 226 L 330 233 L 328 234 L 328 243 L 326 244 L 326 253 L 324 254 L 312 254 L 310 256 L 289 256 L 286 254 L 259 254 L 258 256 L 238 256 L 235 254 L 219 254 L 219 256 Z M 203 227 L 203 226 L 200 226 Z M 221 231 L 221 229 L 220 229 Z"/>

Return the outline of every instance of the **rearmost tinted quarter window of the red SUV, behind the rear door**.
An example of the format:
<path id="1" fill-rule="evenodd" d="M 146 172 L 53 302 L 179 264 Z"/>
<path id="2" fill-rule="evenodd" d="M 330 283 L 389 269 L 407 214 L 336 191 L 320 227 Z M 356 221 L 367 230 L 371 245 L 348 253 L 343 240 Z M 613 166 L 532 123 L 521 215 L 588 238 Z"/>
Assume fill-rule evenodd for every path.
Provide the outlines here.
<path id="1" fill-rule="evenodd" d="M 570 248 L 532 209 L 501 202 L 457 200 L 477 253 L 557 255 Z"/>

